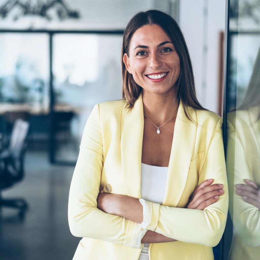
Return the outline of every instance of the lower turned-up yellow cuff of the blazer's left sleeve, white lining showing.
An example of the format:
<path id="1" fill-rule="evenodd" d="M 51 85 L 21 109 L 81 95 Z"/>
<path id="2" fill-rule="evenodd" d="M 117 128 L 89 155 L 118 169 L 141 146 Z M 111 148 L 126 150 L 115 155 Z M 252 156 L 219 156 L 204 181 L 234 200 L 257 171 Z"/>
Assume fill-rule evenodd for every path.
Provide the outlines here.
<path id="1" fill-rule="evenodd" d="M 141 243 L 141 240 L 146 232 L 147 229 L 142 229 L 138 223 L 129 220 L 123 245 L 143 249 L 145 244 Z"/>

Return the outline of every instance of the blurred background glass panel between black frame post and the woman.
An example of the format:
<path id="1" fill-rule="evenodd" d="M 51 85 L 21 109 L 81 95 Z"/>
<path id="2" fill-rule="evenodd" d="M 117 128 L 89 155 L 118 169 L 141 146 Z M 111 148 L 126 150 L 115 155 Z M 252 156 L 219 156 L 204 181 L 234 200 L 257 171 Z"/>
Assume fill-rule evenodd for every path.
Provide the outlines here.
<path id="1" fill-rule="evenodd" d="M 121 99 L 121 43 L 121 35 L 54 35 L 55 160 L 75 162 L 94 105 Z"/>

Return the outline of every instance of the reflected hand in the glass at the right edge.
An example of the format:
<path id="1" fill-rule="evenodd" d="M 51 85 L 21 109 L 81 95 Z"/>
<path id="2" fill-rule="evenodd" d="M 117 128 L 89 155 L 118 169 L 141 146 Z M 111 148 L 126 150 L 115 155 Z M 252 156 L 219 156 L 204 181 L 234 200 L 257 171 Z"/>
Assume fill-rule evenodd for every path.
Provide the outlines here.
<path id="1" fill-rule="evenodd" d="M 236 194 L 243 196 L 243 200 L 260 210 L 260 190 L 252 180 L 244 179 L 246 184 L 237 184 Z"/>

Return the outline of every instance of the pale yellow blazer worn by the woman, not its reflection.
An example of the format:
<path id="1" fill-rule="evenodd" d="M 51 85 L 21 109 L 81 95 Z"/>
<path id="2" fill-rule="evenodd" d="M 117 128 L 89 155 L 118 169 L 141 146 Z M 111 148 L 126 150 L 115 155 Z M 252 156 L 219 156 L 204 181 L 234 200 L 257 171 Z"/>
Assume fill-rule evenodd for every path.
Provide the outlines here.
<path id="1" fill-rule="evenodd" d="M 101 191 L 141 198 L 142 93 L 131 113 L 125 104 L 116 100 L 95 105 L 83 132 L 68 205 L 70 231 L 83 237 L 75 260 L 137 260 L 144 245 L 135 243 L 138 223 L 96 207 Z M 225 228 L 228 187 L 222 118 L 188 109 L 197 125 L 186 118 L 180 101 L 165 197 L 152 216 L 153 231 L 178 241 L 149 244 L 152 260 L 213 259 L 212 246 L 218 244 Z M 185 209 L 197 185 L 209 178 L 224 185 L 224 195 L 204 210 Z"/>

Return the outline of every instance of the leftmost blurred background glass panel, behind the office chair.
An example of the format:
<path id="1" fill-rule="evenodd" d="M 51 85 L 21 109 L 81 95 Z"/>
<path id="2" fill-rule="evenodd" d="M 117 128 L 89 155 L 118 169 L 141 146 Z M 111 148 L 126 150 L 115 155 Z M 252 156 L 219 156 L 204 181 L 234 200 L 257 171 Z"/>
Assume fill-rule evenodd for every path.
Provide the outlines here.
<path id="1" fill-rule="evenodd" d="M 8 136 L 22 118 L 30 121 L 28 138 L 46 144 L 49 129 L 38 127 L 38 120 L 49 113 L 49 36 L 0 33 L 0 57 L 1 133 Z"/>

